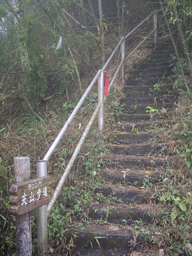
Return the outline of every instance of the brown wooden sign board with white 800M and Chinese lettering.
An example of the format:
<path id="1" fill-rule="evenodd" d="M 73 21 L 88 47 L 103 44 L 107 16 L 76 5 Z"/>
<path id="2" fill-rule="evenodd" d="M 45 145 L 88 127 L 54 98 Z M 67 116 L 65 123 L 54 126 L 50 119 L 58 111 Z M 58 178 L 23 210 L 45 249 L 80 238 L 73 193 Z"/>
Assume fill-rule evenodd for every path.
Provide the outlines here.
<path id="1" fill-rule="evenodd" d="M 51 200 L 51 187 L 54 178 L 46 176 L 26 182 L 13 184 L 10 187 L 10 213 L 16 216 L 30 212 Z"/>

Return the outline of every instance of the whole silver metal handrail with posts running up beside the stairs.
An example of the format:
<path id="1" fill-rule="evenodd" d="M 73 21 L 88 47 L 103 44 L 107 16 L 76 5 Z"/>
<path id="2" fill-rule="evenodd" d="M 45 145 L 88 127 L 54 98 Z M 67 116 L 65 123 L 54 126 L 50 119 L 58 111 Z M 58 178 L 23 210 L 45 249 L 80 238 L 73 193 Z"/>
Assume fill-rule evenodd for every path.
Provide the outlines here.
<path id="1" fill-rule="evenodd" d="M 37 176 L 38 178 L 42 177 L 42 176 L 46 176 L 47 172 L 46 172 L 46 168 L 47 168 L 47 161 L 50 159 L 50 157 L 52 156 L 54 150 L 56 149 L 56 147 L 58 146 L 58 143 L 60 142 L 60 140 L 62 139 L 64 133 L 66 132 L 67 128 L 69 127 L 70 123 L 74 120 L 74 117 L 76 116 L 78 110 L 80 109 L 80 107 L 82 106 L 84 100 L 86 99 L 86 97 L 88 96 L 88 94 L 90 93 L 90 90 L 93 88 L 94 84 L 96 83 L 96 81 L 98 80 L 98 104 L 96 106 L 96 109 L 94 110 L 94 113 L 92 114 L 92 117 L 90 118 L 90 121 L 88 122 L 88 125 L 86 126 L 84 133 L 82 135 L 82 137 L 80 138 L 78 145 L 76 146 L 76 149 L 74 150 L 74 153 L 70 159 L 70 161 L 68 162 L 68 165 L 66 166 L 66 169 L 54 191 L 54 194 L 52 196 L 52 199 L 50 201 L 50 203 L 44 206 L 41 206 L 40 208 L 38 208 L 38 214 L 37 214 L 37 219 L 38 219 L 38 224 L 40 225 L 38 227 L 39 230 L 41 230 L 41 232 L 38 232 L 38 234 L 41 234 L 38 236 L 38 254 L 39 255 L 44 255 L 46 252 L 46 248 L 47 248 L 47 216 L 50 214 L 52 207 L 54 205 L 54 203 L 56 202 L 56 199 L 58 198 L 58 195 L 62 189 L 62 186 L 64 184 L 64 182 L 66 181 L 66 178 L 72 168 L 72 165 L 74 164 L 74 161 L 76 160 L 76 157 L 78 155 L 78 153 L 80 152 L 81 146 L 86 138 L 86 136 L 88 135 L 88 132 L 98 114 L 98 129 L 101 131 L 103 126 L 104 126 L 104 102 L 106 101 L 107 96 L 104 96 L 104 70 L 107 68 L 108 64 L 110 63 L 110 61 L 112 60 L 112 58 L 114 57 L 115 53 L 117 52 L 117 50 L 119 49 L 119 47 L 121 46 L 121 62 L 118 65 L 118 68 L 112 78 L 112 81 L 109 84 L 109 91 L 111 90 L 115 79 L 117 78 L 120 70 L 122 69 L 122 81 L 125 81 L 125 62 L 126 62 L 126 57 L 125 57 L 125 41 L 126 39 L 137 29 L 139 28 L 146 20 L 148 20 L 152 15 L 154 15 L 154 29 L 150 32 L 150 34 L 148 34 L 148 36 L 146 36 L 146 38 L 144 38 L 144 40 L 136 47 L 136 49 L 138 49 L 138 47 L 144 43 L 146 41 L 146 39 L 152 34 L 154 34 L 154 41 L 156 44 L 156 38 L 157 38 L 157 27 L 156 27 L 156 22 L 157 22 L 157 12 L 152 12 L 147 18 L 145 18 L 142 22 L 140 22 L 140 24 L 138 24 L 138 26 L 136 26 L 136 28 L 134 28 L 129 34 L 127 34 L 125 37 L 122 37 L 120 39 L 120 41 L 118 42 L 116 48 L 114 49 L 114 51 L 112 52 L 112 54 L 110 55 L 110 57 L 108 58 L 108 60 L 106 61 L 106 63 L 104 64 L 104 66 L 102 67 L 101 70 L 98 70 L 97 74 L 95 75 L 95 77 L 93 78 L 92 82 L 90 83 L 90 85 L 88 86 L 88 88 L 86 89 L 86 91 L 84 92 L 83 96 L 81 97 L 80 101 L 78 102 L 78 104 L 76 105 L 76 107 L 74 108 L 72 114 L 70 115 L 70 117 L 68 118 L 68 120 L 66 121 L 66 123 L 64 124 L 64 126 L 62 127 L 62 129 L 60 130 L 60 132 L 58 133 L 56 139 L 54 140 L 54 142 L 52 143 L 52 145 L 50 146 L 50 148 L 48 149 L 48 151 L 46 152 L 44 158 L 42 160 L 38 160 L 37 162 Z M 134 49 L 129 55 L 128 57 L 130 57 L 135 50 Z"/>

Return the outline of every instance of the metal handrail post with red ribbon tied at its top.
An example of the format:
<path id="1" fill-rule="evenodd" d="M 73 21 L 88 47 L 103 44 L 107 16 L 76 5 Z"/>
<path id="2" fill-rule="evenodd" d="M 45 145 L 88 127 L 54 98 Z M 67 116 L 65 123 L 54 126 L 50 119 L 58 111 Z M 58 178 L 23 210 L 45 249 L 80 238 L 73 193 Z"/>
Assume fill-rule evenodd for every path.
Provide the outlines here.
<path id="1" fill-rule="evenodd" d="M 102 102 L 98 112 L 98 130 L 101 132 L 104 128 L 104 70 L 98 78 L 98 103 Z"/>

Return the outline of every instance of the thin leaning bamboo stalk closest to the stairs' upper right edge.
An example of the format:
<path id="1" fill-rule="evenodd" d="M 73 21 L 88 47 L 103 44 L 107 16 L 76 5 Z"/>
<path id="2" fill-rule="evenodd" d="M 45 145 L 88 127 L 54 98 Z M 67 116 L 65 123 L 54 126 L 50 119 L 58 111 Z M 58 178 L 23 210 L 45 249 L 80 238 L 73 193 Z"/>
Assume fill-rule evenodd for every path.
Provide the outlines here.
<path id="1" fill-rule="evenodd" d="M 184 81 L 184 84 L 185 84 L 185 87 L 186 87 L 187 91 L 190 92 L 190 89 L 188 87 L 188 84 L 187 84 L 187 81 L 186 81 L 186 78 L 185 78 L 184 71 L 182 69 L 182 64 L 181 64 L 181 60 L 180 60 L 180 57 L 179 57 L 179 54 L 178 54 L 178 51 L 177 51 L 176 43 L 174 41 L 174 38 L 173 38 L 173 35 L 172 35 L 172 32 L 171 32 L 170 26 L 169 26 L 169 22 L 167 20 L 167 17 L 166 17 L 166 14 L 165 14 L 165 11 L 164 11 L 164 8 L 163 8 L 163 5 L 162 5 L 162 1 L 159 0 L 159 2 L 160 2 L 161 9 L 162 9 L 162 12 L 163 12 L 163 16 L 164 16 L 164 19 L 165 19 L 165 22 L 166 22 L 166 25 L 167 25 L 167 28 L 168 28 L 168 31 L 169 31 L 169 34 L 170 34 L 170 38 L 172 40 L 172 44 L 174 46 L 174 50 L 175 50 L 175 54 L 176 54 L 176 57 L 177 57 L 177 60 L 178 60 L 178 64 L 179 64 L 179 68 L 180 68 L 182 79 Z"/>

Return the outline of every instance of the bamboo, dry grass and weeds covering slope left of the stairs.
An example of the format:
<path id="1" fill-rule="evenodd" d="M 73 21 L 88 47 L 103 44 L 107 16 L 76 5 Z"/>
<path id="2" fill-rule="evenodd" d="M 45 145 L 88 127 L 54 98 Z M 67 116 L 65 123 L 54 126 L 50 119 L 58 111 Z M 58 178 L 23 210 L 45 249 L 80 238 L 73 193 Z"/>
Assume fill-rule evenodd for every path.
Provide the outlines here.
<path id="1" fill-rule="evenodd" d="M 102 1 L 103 20 L 99 18 L 97 1 L 12 1 L 0 2 L 0 253 L 15 255 L 15 218 L 9 211 L 9 187 L 14 182 L 13 159 L 30 156 L 31 178 L 36 175 L 36 160 L 41 159 L 68 118 L 80 94 L 92 80 L 102 64 L 102 33 L 104 54 L 108 58 L 119 36 L 129 32 L 151 10 L 138 1 L 121 4 L 112 1 L 110 6 Z M 118 2 L 118 5 L 116 5 Z M 17 5 L 20 3 L 19 5 Z M 93 10 L 90 8 L 92 3 Z M 140 6 L 140 8 L 138 8 Z M 146 10 L 144 16 L 139 9 Z M 93 12 L 94 11 L 94 12 Z M 129 12 L 128 12 L 129 11 Z M 125 13 L 129 15 L 125 17 Z M 136 17 L 134 18 L 133 17 Z M 74 18 L 78 17 L 78 18 Z M 132 22 L 130 23 L 130 20 Z M 142 31 L 148 30 L 148 24 Z M 116 23 L 118 24 L 117 28 Z M 100 25 L 104 25 L 104 31 Z M 146 31 L 145 31 L 146 30 Z M 61 45 L 58 42 L 61 41 Z M 111 38 L 113 37 L 113 40 Z M 135 34 L 128 47 L 140 40 Z M 58 50 L 56 46 L 58 45 Z M 102 51 L 103 52 L 103 51 Z M 119 52 L 108 69 L 110 78 L 119 60 Z M 119 84 L 112 95 L 110 109 L 123 110 L 118 106 Z M 115 100 L 114 100 L 115 98 Z M 97 102 L 93 92 L 80 109 L 76 120 L 64 136 L 58 150 L 48 163 L 48 174 L 56 183 L 65 170 L 68 159 L 85 128 L 88 116 Z M 110 117 L 109 117 L 110 119 Z M 89 136 L 76 160 L 68 182 L 49 218 L 49 254 L 70 255 L 65 236 L 71 225 L 82 228 L 88 225 L 82 207 L 93 199 L 90 184 L 98 184 L 98 171 L 105 164 L 106 149 L 97 129 Z M 96 194 L 100 201 L 117 200 L 115 195 L 105 198 Z M 77 220 L 81 219 L 81 222 Z M 32 215 L 33 253 L 36 254 L 36 216 Z M 97 238 L 96 238 L 97 239 Z M 99 238 L 98 238 L 99 239 Z"/>

